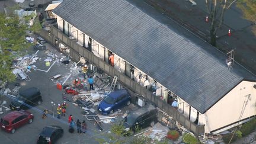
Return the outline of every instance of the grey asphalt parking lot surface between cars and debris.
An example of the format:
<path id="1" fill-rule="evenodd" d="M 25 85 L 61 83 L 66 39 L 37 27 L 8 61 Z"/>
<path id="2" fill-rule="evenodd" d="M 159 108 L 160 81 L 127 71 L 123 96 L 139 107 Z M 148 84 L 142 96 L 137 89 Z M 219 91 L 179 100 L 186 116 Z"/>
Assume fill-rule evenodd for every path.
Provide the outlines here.
<path id="1" fill-rule="evenodd" d="M 55 53 L 60 59 L 60 57 L 63 57 L 63 59 L 67 59 L 67 57 L 64 57 L 60 54 L 60 52 L 57 52 L 55 48 L 50 46 L 50 44 L 45 44 L 48 50 L 39 50 L 37 53 L 37 57 L 39 57 L 38 60 L 36 60 L 36 63 L 33 63 L 32 65 L 37 66 L 37 69 L 46 70 L 49 69 L 49 67 L 45 66 L 44 59 L 47 56 L 48 52 Z M 33 54 L 36 50 L 30 50 L 29 53 Z M 56 59 L 52 59 L 51 65 L 55 62 Z M 113 123 L 108 124 L 102 124 L 103 131 L 99 131 L 98 127 L 94 125 L 94 121 L 88 121 L 86 120 L 85 116 L 82 116 L 82 108 L 73 105 L 71 102 L 67 101 L 68 107 L 66 110 L 66 117 L 62 117 L 61 119 L 56 119 L 56 117 L 47 117 L 46 119 L 41 119 L 42 111 L 44 109 L 52 110 L 52 104 L 53 101 L 56 105 L 58 103 L 63 103 L 62 100 L 62 93 L 63 90 L 60 91 L 56 88 L 57 81 L 51 81 L 50 78 L 52 76 L 56 75 L 57 73 L 60 73 L 62 75 L 62 79 L 59 80 L 59 82 L 65 81 L 65 79 L 68 77 L 69 74 L 72 74 L 68 81 L 66 81 L 66 84 L 72 81 L 72 79 L 75 79 L 79 76 L 82 77 L 82 74 L 79 73 L 79 71 L 71 71 L 69 68 L 72 65 L 72 61 L 68 65 L 64 65 L 63 63 L 59 62 L 57 60 L 55 64 L 50 67 L 48 72 L 44 71 L 34 71 L 33 69 L 31 72 L 27 73 L 27 75 L 30 77 L 30 81 L 19 81 L 13 82 L 12 84 L 8 85 L 9 89 L 13 89 L 15 87 L 15 84 L 18 82 L 21 84 L 21 89 L 26 89 L 30 87 L 37 87 L 41 91 L 41 95 L 43 98 L 43 103 L 41 105 L 37 105 L 34 108 L 30 108 L 28 111 L 30 111 L 32 114 L 34 114 L 34 121 L 31 124 L 26 124 L 25 126 L 21 127 L 20 129 L 17 129 L 15 133 L 7 133 L 4 132 L 4 130 L 0 130 L 0 137 L 1 143 L 36 143 L 37 138 L 39 136 L 39 133 L 45 126 L 50 125 L 57 125 L 64 129 L 64 135 L 62 138 L 60 138 L 57 143 L 98 143 L 95 139 L 104 137 L 104 133 L 108 133 L 110 130 L 110 126 Z M 69 99 L 72 99 L 72 96 L 69 96 Z M 10 99 L 8 97 L 4 97 L 4 100 L 7 101 L 7 104 L 5 104 L 5 107 L 9 107 L 9 101 Z M 53 110 L 56 113 L 56 105 L 53 107 Z M 131 110 L 132 105 L 129 107 L 124 107 L 121 109 L 123 112 L 126 110 Z M 133 106 L 134 107 L 134 106 Z M 96 110 L 96 109 L 95 109 Z M 6 110 L 6 108 L 3 108 L 4 114 L 1 114 L 0 117 L 7 114 L 9 111 Z M 68 116 L 69 114 L 73 115 L 73 120 L 76 121 L 79 119 L 80 121 L 86 120 L 87 121 L 87 132 L 85 134 L 78 135 L 75 131 L 75 133 L 69 133 L 68 132 Z M 121 116 L 120 116 L 121 117 Z M 116 120 L 117 121 L 117 120 Z"/>

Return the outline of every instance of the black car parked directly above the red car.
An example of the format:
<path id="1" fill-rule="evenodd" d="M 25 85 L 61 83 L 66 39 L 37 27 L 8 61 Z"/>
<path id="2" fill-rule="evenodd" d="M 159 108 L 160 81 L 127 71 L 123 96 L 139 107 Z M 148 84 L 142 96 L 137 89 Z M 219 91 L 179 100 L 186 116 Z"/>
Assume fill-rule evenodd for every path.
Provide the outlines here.
<path id="1" fill-rule="evenodd" d="M 11 110 L 25 110 L 29 108 L 28 105 L 40 105 L 42 102 L 43 100 L 39 89 L 32 87 L 25 89 L 24 91 L 20 91 L 17 98 L 11 101 L 9 107 Z"/>

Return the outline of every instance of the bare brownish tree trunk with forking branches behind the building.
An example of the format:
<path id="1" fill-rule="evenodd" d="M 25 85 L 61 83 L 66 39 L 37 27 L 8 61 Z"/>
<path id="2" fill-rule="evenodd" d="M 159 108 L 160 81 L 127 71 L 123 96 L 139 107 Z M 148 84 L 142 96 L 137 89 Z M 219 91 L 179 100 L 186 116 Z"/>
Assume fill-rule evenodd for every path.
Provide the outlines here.
<path id="1" fill-rule="evenodd" d="M 226 9 L 230 8 L 236 0 L 205 0 L 210 18 L 210 44 L 216 46 L 216 32 L 224 20 Z M 218 21 L 219 20 L 219 21 Z"/>

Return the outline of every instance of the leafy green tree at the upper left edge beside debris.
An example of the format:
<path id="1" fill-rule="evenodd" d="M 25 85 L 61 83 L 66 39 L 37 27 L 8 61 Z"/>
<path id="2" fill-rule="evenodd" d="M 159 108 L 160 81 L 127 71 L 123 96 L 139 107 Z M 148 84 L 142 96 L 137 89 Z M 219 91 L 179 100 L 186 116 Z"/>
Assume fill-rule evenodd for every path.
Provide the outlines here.
<path id="1" fill-rule="evenodd" d="M 14 81 L 12 73 L 12 61 L 15 53 L 22 54 L 24 49 L 28 49 L 31 43 L 25 41 L 26 31 L 38 31 L 39 23 L 34 21 L 33 27 L 29 27 L 25 17 L 19 17 L 13 11 L 9 14 L 0 13 L 0 80 Z M 33 17 L 35 15 L 30 15 Z"/>

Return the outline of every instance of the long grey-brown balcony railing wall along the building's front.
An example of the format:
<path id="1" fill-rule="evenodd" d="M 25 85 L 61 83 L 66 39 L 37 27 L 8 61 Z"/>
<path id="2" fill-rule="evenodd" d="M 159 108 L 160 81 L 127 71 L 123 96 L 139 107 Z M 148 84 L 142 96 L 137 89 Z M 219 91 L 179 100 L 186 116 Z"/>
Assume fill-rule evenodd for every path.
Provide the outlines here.
<path id="1" fill-rule="evenodd" d="M 165 103 L 165 101 L 162 101 L 160 98 L 153 95 L 151 91 L 148 91 L 146 88 L 142 87 L 137 82 L 130 79 L 128 76 L 123 75 L 123 73 L 120 73 L 119 71 L 117 71 L 117 69 L 114 69 L 112 66 L 108 65 L 108 63 L 105 63 L 103 59 L 100 59 L 100 57 L 95 56 L 92 52 L 89 52 L 89 50 L 80 46 L 78 43 L 76 43 L 75 40 L 69 39 L 68 36 L 63 34 L 62 31 L 60 31 L 56 27 L 51 27 L 50 33 L 49 31 L 41 30 L 39 34 L 41 37 L 43 37 L 43 39 L 47 40 L 53 45 L 55 44 L 55 40 L 58 40 L 61 43 L 65 44 L 66 47 L 69 47 L 69 49 L 71 49 L 70 56 L 76 62 L 79 61 L 80 56 L 83 56 L 85 57 L 85 59 L 88 59 L 90 62 L 103 69 L 103 71 L 108 73 L 108 75 L 118 76 L 119 81 L 125 87 L 131 89 L 139 95 L 142 95 L 146 100 L 151 101 L 151 103 L 155 104 L 161 110 L 164 110 L 167 114 L 169 114 L 169 116 L 177 120 L 186 129 L 190 130 L 193 133 L 196 133 L 197 135 L 204 133 L 204 126 L 197 126 L 197 124 L 191 122 L 187 117 L 177 111 L 174 107 L 171 107 L 171 105 Z"/>

